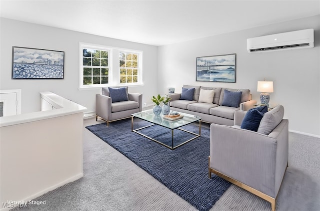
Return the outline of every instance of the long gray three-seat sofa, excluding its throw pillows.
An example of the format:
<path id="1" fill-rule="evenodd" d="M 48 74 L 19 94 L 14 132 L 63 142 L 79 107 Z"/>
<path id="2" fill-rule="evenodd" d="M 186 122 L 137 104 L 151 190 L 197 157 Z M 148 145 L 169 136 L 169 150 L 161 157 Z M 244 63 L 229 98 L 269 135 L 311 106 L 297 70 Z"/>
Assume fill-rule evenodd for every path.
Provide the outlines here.
<path id="1" fill-rule="evenodd" d="M 169 94 L 168 96 L 172 98 L 169 102 L 170 109 L 177 112 L 199 116 L 202 118 L 201 121 L 204 122 L 232 126 L 234 112 L 236 110 L 247 111 L 256 103 L 255 100 L 251 99 L 251 93 L 249 89 L 229 89 L 222 87 L 183 85 L 183 88 L 193 87 L 194 93 L 192 100 L 181 100 L 181 93 Z M 201 89 L 202 91 L 214 90 L 214 96 L 211 102 L 198 102 Z M 238 107 L 224 106 L 222 104 L 224 90 L 242 92 Z"/>

